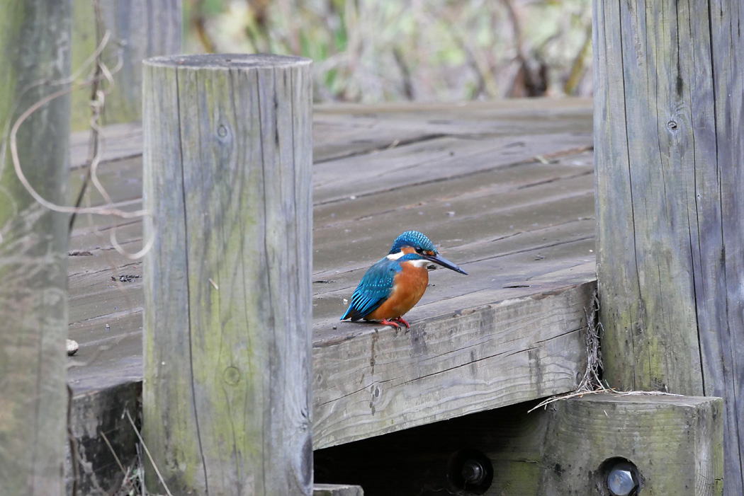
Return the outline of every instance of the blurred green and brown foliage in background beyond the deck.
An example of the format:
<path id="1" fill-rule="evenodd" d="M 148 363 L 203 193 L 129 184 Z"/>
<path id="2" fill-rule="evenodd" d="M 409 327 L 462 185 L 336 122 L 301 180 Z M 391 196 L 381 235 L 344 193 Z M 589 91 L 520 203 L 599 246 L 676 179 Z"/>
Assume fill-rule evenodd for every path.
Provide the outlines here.
<path id="1" fill-rule="evenodd" d="M 591 0 L 185 0 L 185 51 L 315 61 L 317 101 L 591 94 Z"/>

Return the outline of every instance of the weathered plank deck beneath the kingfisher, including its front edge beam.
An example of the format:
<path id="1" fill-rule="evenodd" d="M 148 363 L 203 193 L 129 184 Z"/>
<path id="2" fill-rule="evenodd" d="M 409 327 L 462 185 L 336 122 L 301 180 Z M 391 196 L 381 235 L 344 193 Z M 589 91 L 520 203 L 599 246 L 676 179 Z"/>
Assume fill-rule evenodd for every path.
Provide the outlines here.
<path id="1" fill-rule="evenodd" d="M 315 108 L 315 448 L 575 388 L 595 285 L 591 112 L 587 99 Z M 140 208 L 141 129 L 112 127 L 104 146 L 103 186 Z M 86 136 L 72 150 L 84 163 Z M 129 429 L 142 376 L 141 261 L 112 249 L 114 223 L 81 216 L 70 243 L 69 382 L 92 451 L 97 431 Z M 406 229 L 469 275 L 435 270 L 408 333 L 339 322 Z M 116 232 L 141 248 L 140 222 Z"/>

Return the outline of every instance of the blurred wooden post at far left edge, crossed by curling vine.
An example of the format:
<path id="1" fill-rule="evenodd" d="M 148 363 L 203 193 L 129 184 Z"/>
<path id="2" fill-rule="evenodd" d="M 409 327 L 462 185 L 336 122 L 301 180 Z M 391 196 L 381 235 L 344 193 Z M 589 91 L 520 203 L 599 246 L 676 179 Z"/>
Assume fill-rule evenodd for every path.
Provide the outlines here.
<path id="1" fill-rule="evenodd" d="M 70 1 L 0 2 L 0 126 L 70 74 Z M 40 83 L 40 84 L 39 84 Z M 17 133 L 19 163 L 43 198 L 68 202 L 70 100 L 32 114 Z M 10 129 L 10 125 L 7 129 Z M 37 203 L 0 157 L 0 492 L 61 495 L 65 461 L 67 220 Z"/>

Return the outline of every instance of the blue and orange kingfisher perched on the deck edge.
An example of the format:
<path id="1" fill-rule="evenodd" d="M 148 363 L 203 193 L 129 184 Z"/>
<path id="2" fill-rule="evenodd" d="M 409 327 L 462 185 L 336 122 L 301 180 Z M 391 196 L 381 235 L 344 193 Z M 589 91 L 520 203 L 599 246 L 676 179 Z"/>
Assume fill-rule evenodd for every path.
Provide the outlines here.
<path id="1" fill-rule="evenodd" d="M 400 329 L 411 328 L 403 315 L 411 310 L 429 284 L 430 263 L 467 273 L 437 253 L 432 241 L 418 231 L 406 231 L 395 238 L 390 253 L 369 268 L 351 296 L 351 304 L 340 320 L 376 320 Z"/>

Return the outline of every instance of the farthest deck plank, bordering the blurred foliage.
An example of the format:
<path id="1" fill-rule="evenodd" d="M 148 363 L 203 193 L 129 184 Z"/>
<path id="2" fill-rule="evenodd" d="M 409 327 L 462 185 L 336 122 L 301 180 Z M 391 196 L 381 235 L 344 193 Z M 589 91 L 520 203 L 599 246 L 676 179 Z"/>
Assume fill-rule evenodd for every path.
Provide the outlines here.
<path id="1" fill-rule="evenodd" d="M 591 99 L 315 105 L 315 160 L 369 154 L 436 137 L 591 134 Z"/>

